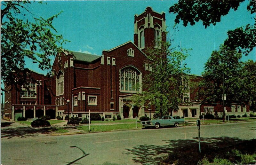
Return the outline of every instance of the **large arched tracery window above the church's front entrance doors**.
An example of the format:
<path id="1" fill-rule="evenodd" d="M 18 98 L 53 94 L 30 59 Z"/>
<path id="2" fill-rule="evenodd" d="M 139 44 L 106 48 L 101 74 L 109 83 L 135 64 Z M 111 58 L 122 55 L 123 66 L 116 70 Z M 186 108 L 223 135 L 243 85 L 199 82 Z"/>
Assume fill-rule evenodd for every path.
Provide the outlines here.
<path id="1" fill-rule="evenodd" d="M 134 67 L 125 67 L 120 71 L 121 91 L 138 92 L 141 85 L 141 73 Z"/>

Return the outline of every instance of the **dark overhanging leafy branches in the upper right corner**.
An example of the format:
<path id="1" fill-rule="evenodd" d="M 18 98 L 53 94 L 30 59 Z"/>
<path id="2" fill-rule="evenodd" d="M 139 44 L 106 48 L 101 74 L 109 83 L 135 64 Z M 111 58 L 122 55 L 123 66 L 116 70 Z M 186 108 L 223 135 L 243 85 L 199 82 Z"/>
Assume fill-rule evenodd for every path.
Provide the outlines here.
<path id="1" fill-rule="evenodd" d="M 237 10 L 238 6 L 245 0 L 181 0 L 177 4 L 170 7 L 169 12 L 176 14 L 175 23 L 183 21 L 186 27 L 188 23 L 191 26 L 201 21 L 205 28 L 216 25 L 220 22 L 221 17 L 228 14 L 232 9 Z M 224 45 L 231 49 L 236 49 L 239 53 L 248 55 L 255 47 L 255 0 L 248 1 L 247 10 L 252 14 L 254 23 L 248 23 L 234 30 L 228 30 L 228 38 L 224 41 Z"/>

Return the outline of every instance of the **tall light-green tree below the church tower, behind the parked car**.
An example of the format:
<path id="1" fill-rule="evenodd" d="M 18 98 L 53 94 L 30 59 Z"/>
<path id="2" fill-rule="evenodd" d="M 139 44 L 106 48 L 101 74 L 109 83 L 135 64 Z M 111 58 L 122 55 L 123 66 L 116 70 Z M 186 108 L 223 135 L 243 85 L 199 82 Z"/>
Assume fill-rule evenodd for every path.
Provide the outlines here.
<path id="1" fill-rule="evenodd" d="M 150 101 L 158 115 L 167 115 L 170 109 L 178 109 L 182 98 L 182 73 L 188 72 L 186 64 L 181 65 L 181 60 L 187 57 L 187 51 L 181 54 L 170 46 L 170 42 L 162 42 L 161 48 L 149 48 L 146 51 L 150 59 L 145 61 L 149 72 L 143 75 L 143 91 L 133 97 L 135 105 L 147 107 Z"/>

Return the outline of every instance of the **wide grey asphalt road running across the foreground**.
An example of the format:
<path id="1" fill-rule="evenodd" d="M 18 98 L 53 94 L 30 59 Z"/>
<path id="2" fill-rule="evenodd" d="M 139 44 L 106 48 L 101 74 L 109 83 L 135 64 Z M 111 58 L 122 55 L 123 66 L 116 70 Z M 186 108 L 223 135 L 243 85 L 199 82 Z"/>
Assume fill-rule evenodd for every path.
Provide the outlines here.
<path id="1" fill-rule="evenodd" d="M 201 126 L 202 143 L 229 145 L 256 137 L 256 122 Z M 157 164 L 172 149 L 197 143 L 196 126 L 1 138 L 2 164 Z M 253 146 L 255 147 L 255 146 Z"/>

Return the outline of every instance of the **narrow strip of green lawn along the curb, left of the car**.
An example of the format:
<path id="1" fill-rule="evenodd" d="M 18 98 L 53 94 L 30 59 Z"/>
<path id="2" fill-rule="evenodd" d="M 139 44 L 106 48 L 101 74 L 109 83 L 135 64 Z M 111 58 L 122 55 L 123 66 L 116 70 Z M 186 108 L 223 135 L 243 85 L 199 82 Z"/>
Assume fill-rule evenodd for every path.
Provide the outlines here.
<path id="1" fill-rule="evenodd" d="M 141 124 L 137 123 L 137 127 L 141 128 Z M 87 126 L 78 126 L 78 130 L 87 131 Z M 136 123 L 131 124 L 116 124 L 116 125 L 91 125 L 91 132 L 105 132 L 112 130 L 130 130 L 136 129 Z"/>

